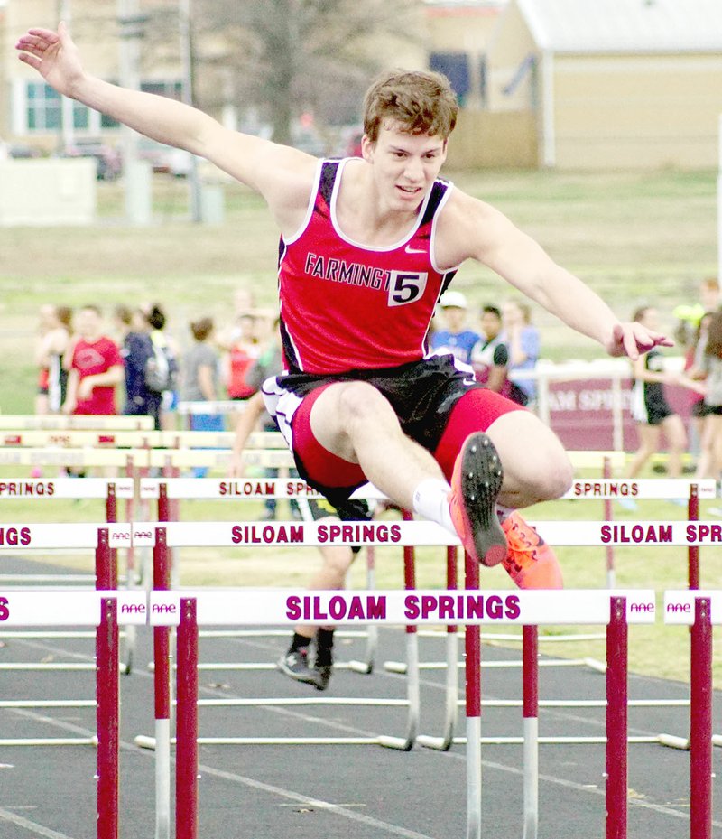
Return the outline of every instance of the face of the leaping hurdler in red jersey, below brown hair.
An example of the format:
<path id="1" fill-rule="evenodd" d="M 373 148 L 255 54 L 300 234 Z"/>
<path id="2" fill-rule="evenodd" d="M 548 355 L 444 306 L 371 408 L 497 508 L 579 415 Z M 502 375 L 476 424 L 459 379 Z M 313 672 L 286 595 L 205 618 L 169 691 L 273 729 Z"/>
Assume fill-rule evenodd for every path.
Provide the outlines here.
<path id="1" fill-rule="evenodd" d="M 409 134 L 393 123 L 379 129 L 372 143 L 364 136 L 364 158 L 374 166 L 375 182 L 393 210 L 416 210 L 446 160 L 447 141 Z"/>

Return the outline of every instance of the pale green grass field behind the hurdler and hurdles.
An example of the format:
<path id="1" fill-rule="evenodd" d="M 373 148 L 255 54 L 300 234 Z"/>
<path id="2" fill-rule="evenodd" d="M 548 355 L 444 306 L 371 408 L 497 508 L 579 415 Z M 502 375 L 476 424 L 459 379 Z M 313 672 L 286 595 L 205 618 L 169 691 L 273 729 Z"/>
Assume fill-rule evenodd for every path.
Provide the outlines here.
<path id="1" fill-rule="evenodd" d="M 717 173 L 606 172 L 449 172 L 459 186 L 489 200 L 527 230 L 561 264 L 569 267 L 602 294 L 621 317 L 635 306 L 653 303 L 668 328 L 677 303 L 693 302 L 699 279 L 717 271 Z M 147 228 L 129 228 L 118 219 L 122 193 L 116 184 L 98 184 L 100 222 L 93 228 L 0 228 L 0 410 L 5 414 L 32 411 L 34 368 L 32 340 L 38 307 L 42 303 L 78 306 L 82 303 L 140 303 L 158 300 L 170 313 L 171 331 L 186 340 L 192 317 L 209 314 L 219 325 L 230 316 L 236 287 L 254 290 L 257 303 L 275 302 L 277 233 L 262 202 L 252 193 L 227 184 L 226 219 L 214 226 L 194 226 L 186 216 L 184 182 L 157 176 L 153 185 L 155 220 Z M 40 200 L 40 199 L 39 199 Z M 463 266 L 455 287 L 472 303 L 498 302 L 506 286 L 478 266 Z M 534 312 L 542 329 L 543 353 L 551 359 L 592 358 L 601 351 L 542 311 Z M 50 503 L 50 502 L 49 502 Z M 5 507 L 5 520 L 25 521 L 42 514 L 56 520 L 97 517 L 92 504 L 32 509 Z M 705 508 L 702 505 L 702 517 Z M 530 511 L 532 518 L 598 519 L 601 503 L 556 502 Z M 243 517 L 253 518 L 248 508 Z M 635 518 L 670 520 L 680 508 L 664 502 L 641 502 Z M 212 520 L 238 517 L 230 505 L 190 503 L 187 518 Z M 620 519 L 629 518 L 616 511 Z M 715 549 L 702 551 L 703 584 L 722 585 L 722 567 Z M 605 582 L 600 548 L 563 548 L 560 558 L 566 583 L 572 587 L 599 587 Z M 64 561 L 70 561 L 68 557 Z M 87 564 L 87 558 L 77 561 Z M 303 585 L 317 562 L 313 550 L 238 553 L 233 556 L 209 549 L 187 550 L 181 557 L 183 583 Z M 443 558 L 420 551 L 419 585 L 443 585 Z M 398 587 L 401 558 L 390 551 L 379 556 L 377 584 Z M 653 587 L 661 592 L 686 584 L 686 555 L 682 549 L 663 547 L 617 551 L 620 586 Z M 354 582 L 361 585 L 357 564 Z M 504 573 L 486 573 L 482 584 L 508 585 Z M 634 629 L 630 644 L 632 667 L 655 676 L 687 678 L 689 639 L 681 629 L 658 625 Z M 593 644 L 585 651 L 576 645 L 570 656 L 603 657 Z M 722 685 L 722 663 L 716 667 Z"/>

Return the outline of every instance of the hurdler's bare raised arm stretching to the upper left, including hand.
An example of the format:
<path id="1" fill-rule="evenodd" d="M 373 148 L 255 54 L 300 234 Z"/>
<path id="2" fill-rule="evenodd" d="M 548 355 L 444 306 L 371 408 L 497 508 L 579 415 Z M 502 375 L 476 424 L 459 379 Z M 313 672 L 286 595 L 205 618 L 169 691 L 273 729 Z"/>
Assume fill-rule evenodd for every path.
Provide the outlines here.
<path id="1" fill-rule="evenodd" d="M 60 94 L 113 117 L 153 140 L 199 154 L 260 192 L 282 228 L 305 210 L 316 160 L 259 137 L 230 131 L 197 108 L 173 99 L 120 88 L 83 69 L 68 29 L 31 29 L 15 44 L 19 59 Z M 286 216 L 291 214 L 292 218 Z"/>

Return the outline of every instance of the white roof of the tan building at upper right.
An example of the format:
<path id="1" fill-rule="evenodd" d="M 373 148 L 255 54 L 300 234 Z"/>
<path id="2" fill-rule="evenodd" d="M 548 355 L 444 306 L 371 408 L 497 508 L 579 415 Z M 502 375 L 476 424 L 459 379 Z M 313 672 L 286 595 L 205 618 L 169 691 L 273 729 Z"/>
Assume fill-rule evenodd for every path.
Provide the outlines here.
<path id="1" fill-rule="evenodd" d="M 720 0 L 516 0 L 552 52 L 722 51 Z"/>

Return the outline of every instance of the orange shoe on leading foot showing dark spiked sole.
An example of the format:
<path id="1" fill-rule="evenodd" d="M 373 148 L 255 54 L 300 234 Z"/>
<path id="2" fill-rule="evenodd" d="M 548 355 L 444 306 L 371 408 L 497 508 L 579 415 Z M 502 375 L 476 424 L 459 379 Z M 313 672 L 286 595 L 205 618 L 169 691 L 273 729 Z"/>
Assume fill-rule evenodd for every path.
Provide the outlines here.
<path id="1" fill-rule="evenodd" d="M 451 475 L 451 520 L 467 554 L 482 565 L 496 565 L 507 555 L 506 537 L 496 516 L 496 496 L 504 471 L 494 443 L 485 433 L 469 434 Z"/>

